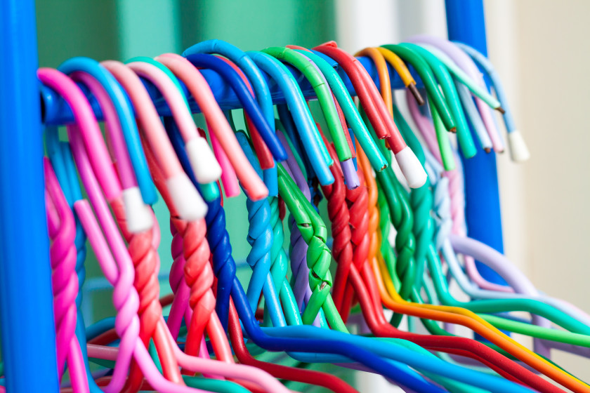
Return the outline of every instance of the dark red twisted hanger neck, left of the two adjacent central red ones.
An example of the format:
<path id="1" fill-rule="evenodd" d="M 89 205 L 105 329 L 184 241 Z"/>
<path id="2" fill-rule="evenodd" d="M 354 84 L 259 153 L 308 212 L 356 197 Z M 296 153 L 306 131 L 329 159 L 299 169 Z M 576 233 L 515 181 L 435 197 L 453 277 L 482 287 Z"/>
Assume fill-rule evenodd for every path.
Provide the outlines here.
<path id="1" fill-rule="evenodd" d="M 329 149 L 332 151 L 332 149 Z M 330 166 L 334 176 L 334 183 L 322 186 L 327 199 L 328 217 L 332 226 L 332 253 L 336 260 L 336 277 L 332 298 L 336 309 L 342 313 L 345 288 L 350 272 L 350 264 L 353 262 L 353 245 L 350 243 L 352 234 L 350 232 L 350 212 L 346 205 L 346 191 L 343 182 L 343 174 L 339 166 Z"/>

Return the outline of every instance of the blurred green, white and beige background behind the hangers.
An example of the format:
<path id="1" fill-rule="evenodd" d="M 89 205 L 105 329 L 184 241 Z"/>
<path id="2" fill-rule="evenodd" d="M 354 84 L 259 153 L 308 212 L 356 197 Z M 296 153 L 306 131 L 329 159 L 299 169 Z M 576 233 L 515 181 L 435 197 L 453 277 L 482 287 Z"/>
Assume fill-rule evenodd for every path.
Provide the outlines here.
<path id="1" fill-rule="evenodd" d="M 520 165 L 508 154 L 498 156 L 506 255 L 539 290 L 589 311 L 590 211 L 584 201 L 590 176 L 584 168 L 590 164 L 590 1 L 486 0 L 485 11 L 490 58 L 532 156 Z M 79 55 L 127 60 L 181 53 L 214 38 L 243 50 L 335 39 L 354 52 L 417 33 L 446 37 L 445 23 L 443 0 L 37 0 L 39 62 L 46 67 Z M 225 206 L 235 259 L 244 260 L 244 199 Z M 166 214 L 164 206 L 156 210 Z M 162 238 L 163 271 L 171 263 L 170 241 Z M 98 268 L 89 263 L 88 269 L 88 287 L 100 288 L 93 278 Z M 110 296 L 87 298 L 89 321 L 112 312 Z M 580 378 L 590 377 L 587 359 L 560 352 L 553 359 Z M 363 378 L 360 387 L 379 384 Z"/>

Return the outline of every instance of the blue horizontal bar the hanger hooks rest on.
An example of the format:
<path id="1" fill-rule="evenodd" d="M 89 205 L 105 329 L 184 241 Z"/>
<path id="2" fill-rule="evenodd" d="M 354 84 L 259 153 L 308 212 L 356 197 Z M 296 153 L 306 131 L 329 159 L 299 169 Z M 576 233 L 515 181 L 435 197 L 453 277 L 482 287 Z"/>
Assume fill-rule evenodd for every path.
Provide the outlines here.
<path id="1" fill-rule="evenodd" d="M 375 81 L 376 86 L 379 88 L 379 77 L 377 75 L 377 69 L 374 63 L 369 58 L 365 57 L 358 58 L 358 60 L 363 65 L 363 67 L 367 69 L 367 72 Z M 348 88 L 350 95 L 356 95 L 355 89 L 353 88 L 353 84 L 350 82 L 350 79 L 348 79 L 348 76 L 346 76 L 346 73 L 343 71 L 343 69 L 341 69 L 341 67 L 338 67 L 336 62 L 334 62 L 333 65 L 340 77 L 342 78 L 342 81 L 346 85 L 346 88 Z M 296 81 L 299 83 L 303 95 L 306 98 L 314 98 L 315 93 L 313 91 L 313 88 L 304 78 L 303 74 L 301 74 L 301 72 L 289 65 L 287 65 L 287 68 L 289 68 L 291 73 L 294 75 Z M 388 68 L 391 79 L 391 87 L 394 89 L 405 88 L 402 80 L 400 79 L 400 76 L 395 72 L 395 70 L 393 70 L 393 68 L 391 68 L 389 65 Z M 237 99 L 237 96 L 232 91 L 232 88 L 223 82 L 221 76 L 219 76 L 216 72 L 211 71 L 211 69 L 201 69 L 200 71 L 203 74 L 209 86 L 211 86 L 211 91 L 213 91 L 214 96 L 221 109 L 237 109 L 242 107 L 240 105 L 240 100 Z M 414 75 L 414 79 L 416 79 L 417 84 L 420 85 L 421 81 L 419 79 L 419 76 L 417 76 L 417 74 L 411 67 L 410 71 Z M 263 74 L 268 83 L 268 87 L 270 88 L 270 93 L 271 95 L 273 95 L 273 101 L 275 102 L 275 104 L 284 103 L 284 95 L 282 91 L 280 91 L 280 88 L 277 86 L 275 81 L 273 81 L 273 79 L 269 79 L 268 75 L 264 72 Z M 143 80 L 143 83 L 145 84 L 147 91 L 149 91 L 150 96 L 152 97 L 152 100 L 154 101 L 156 109 L 160 116 L 171 116 L 170 108 L 168 107 L 168 105 L 166 105 L 166 101 L 162 97 L 162 94 L 159 93 L 157 88 L 155 88 L 155 86 L 153 86 L 149 81 Z M 188 98 L 188 102 L 192 112 L 201 112 L 199 106 L 192 98 L 190 93 L 188 93 L 188 89 L 184 84 L 182 84 L 182 82 L 181 86 L 183 87 L 185 95 Z M 89 99 L 89 102 L 94 110 L 94 113 L 96 114 L 97 119 L 102 120 L 103 115 L 100 111 L 100 107 L 98 105 L 96 98 L 94 98 L 91 95 L 91 93 L 89 93 L 88 89 L 84 88 L 84 86 L 81 87 L 83 91 L 86 93 L 86 97 Z M 72 110 L 70 109 L 70 107 L 63 100 L 63 98 L 61 98 L 58 95 L 58 93 L 55 93 L 55 91 L 51 90 L 51 88 L 41 86 L 41 99 L 44 108 L 44 123 L 46 126 L 59 126 L 62 124 L 71 124 L 74 122 L 74 116 L 72 115 Z"/>

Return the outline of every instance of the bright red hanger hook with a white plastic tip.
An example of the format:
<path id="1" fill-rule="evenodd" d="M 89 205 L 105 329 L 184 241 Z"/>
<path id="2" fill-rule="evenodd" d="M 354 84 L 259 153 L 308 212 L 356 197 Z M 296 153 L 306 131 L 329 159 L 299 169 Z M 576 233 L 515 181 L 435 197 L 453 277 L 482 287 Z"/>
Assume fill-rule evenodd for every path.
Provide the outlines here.
<path id="1" fill-rule="evenodd" d="M 391 147 L 393 154 L 395 154 L 395 159 L 398 161 L 402 173 L 404 173 L 405 178 L 408 180 L 408 184 L 411 187 L 420 187 L 423 185 L 424 181 L 426 181 L 426 173 L 424 173 L 423 168 L 421 169 L 417 165 L 417 160 L 412 150 L 406 149 L 407 145 L 403 138 L 401 138 L 393 119 L 388 116 L 379 91 L 376 89 L 369 74 L 365 71 L 365 68 L 352 55 L 348 55 L 348 53 L 337 48 L 335 42 L 322 44 L 314 49 L 325 55 L 329 55 L 339 62 L 339 65 L 346 70 L 349 77 L 353 76 L 350 80 L 356 81 L 356 84 L 353 83 L 353 86 L 355 86 L 355 91 L 358 91 L 361 98 L 362 107 L 367 110 L 369 116 L 373 116 L 371 121 L 372 124 L 377 125 L 375 130 L 379 130 L 377 131 L 379 138 L 388 141 L 388 145 Z M 367 91 L 368 94 L 363 93 Z M 362 103 L 363 96 L 365 97 L 365 103 Z M 376 107 L 376 113 L 372 111 L 372 105 L 369 102 L 372 102 L 372 105 Z"/>

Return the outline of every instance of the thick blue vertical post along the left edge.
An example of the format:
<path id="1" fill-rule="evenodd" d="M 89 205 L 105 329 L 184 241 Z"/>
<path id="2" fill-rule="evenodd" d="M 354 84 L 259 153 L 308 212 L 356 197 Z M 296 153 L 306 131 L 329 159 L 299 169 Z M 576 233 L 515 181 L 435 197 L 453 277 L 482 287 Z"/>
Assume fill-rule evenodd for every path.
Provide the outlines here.
<path id="1" fill-rule="evenodd" d="M 34 0 L 0 9 L 0 315 L 11 393 L 58 392 Z M 32 375 L 32 364 L 34 368 Z"/>

